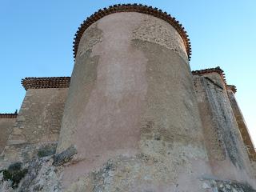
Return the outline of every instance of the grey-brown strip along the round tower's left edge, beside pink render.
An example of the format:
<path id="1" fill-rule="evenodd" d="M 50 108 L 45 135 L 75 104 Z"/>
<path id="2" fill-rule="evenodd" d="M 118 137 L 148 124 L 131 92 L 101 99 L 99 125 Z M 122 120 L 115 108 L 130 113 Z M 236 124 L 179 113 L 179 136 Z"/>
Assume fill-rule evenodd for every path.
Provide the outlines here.
<path id="1" fill-rule="evenodd" d="M 98 75 L 99 57 L 97 55 L 91 55 L 91 48 L 94 44 L 101 41 L 102 31 L 98 29 L 97 22 L 86 31 L 88 31 L 87 34 L 90 39 L 86 38 L 86 35 L 83 35 L 81 47 L 84 47 L 84 50 L 80 47 L 78 49 L 78 57 L 81 59 L 75 62 L 70 80 L 68 99 L 66 100 L 62 118 L 62 131 L 60 132 L 60 139 L 58 141 L 58 152 L 74 144 L 74 134 L 77 132 L 78 126 L 77 118 L 82 115 L 82 110 L 86 108 L 86 103 L 90 98 L 90 90 L 94 87 Z"/>

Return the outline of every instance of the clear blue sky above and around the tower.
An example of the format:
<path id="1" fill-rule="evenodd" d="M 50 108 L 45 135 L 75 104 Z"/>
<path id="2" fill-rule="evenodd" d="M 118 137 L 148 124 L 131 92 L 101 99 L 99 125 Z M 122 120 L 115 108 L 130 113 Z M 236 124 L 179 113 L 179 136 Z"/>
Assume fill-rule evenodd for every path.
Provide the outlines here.
<path id="1" fill-rule="evenodd" d="M 70 76 L 72 42 L 84 18 L 115 3 L 134 1 L 1 0 L 0 113 L 19 109 L 25 77 Z M 192 70 L 221 66 L 238 88 L 236 98 L 256 143 L 255 0 L 136 1 L 165 10 L 185 26 Z"/>

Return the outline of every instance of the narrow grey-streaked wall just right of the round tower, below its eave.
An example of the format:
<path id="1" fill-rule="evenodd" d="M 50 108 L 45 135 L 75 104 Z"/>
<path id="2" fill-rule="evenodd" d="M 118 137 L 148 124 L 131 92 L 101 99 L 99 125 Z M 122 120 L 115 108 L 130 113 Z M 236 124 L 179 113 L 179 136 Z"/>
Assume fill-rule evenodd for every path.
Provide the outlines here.
<path id="1" fill-rule="evenodd" d="M 222 75 L 217 72 L 194 75 L 194 85 L 213 174 L 221 179 L 251 182 L 254 185 L 254 170 L 242 142 Z"/>

